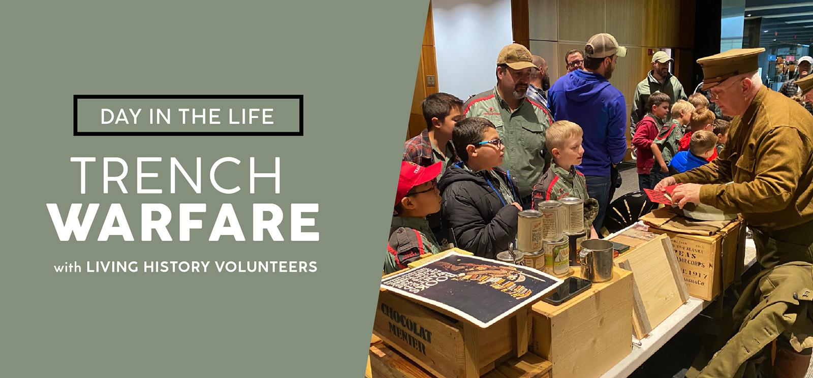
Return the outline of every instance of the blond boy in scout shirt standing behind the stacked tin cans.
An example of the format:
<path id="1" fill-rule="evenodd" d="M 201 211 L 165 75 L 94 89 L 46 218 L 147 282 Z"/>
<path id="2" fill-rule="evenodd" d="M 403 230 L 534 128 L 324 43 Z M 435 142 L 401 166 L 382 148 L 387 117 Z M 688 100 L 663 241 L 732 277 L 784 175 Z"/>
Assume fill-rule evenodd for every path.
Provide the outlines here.
<path id="1" fill-rule="evenodd" d="M 589 228 L 590 238 L 598 238 L 593 219 L 598 214 L 598 201 L 587 195 L 585 175 L 576 169 L 585 154 L 581 146 L 584 132 L 578 124 L 570 121 L 556 121 L 545 133 L 545 146 L 554 157 L 554 163 L 542 174 L 537 185 L 533 185 L 533 209 L 539 202 L 560 200 L 567 197 L 580 198 L 585 202 L 585 229 Z"/>

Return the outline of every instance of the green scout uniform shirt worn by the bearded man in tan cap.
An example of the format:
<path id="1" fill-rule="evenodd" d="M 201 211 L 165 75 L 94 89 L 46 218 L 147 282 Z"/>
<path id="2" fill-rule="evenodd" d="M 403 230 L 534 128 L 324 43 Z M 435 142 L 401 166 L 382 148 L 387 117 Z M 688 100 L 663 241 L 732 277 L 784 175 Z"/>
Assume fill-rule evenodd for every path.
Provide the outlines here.
<path id="1" fill-rule="evenodd" d="M 511 112 L 494 87 L 469 98 L 463 115 L 482 117 L 494 124 L 505 145 L 502 169 L 516 183 L 520 198 L 531 195 L 546 163 L 550 164 L 550 154 L 545 152 L 545 132 L 554 121 L 550 111 L 523 98 L 520 106 Z"/>

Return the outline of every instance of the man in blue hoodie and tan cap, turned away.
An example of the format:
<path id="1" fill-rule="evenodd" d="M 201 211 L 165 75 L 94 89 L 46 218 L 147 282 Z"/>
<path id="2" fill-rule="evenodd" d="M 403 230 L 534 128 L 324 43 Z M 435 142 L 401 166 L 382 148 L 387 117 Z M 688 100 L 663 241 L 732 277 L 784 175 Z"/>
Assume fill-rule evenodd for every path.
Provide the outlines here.
<path id="1" fill-rule="evenodd" d="M 585 154 L 578 169 L 585 174 L 588 195 L 598 200 L 598 216 L 593 221 L 597 231 L 602 229 L 611 199 L 611 167 L 627 151 L 627 104 L 620 90 L 607 81 L 617 57 L 626 54 L 627 48 L 618 46 L 615 37 L 596 34 L 585 46 L 584 70 L 560 77 L 548 93 L 554 119 L 575 122 L 584 130 Z"/>

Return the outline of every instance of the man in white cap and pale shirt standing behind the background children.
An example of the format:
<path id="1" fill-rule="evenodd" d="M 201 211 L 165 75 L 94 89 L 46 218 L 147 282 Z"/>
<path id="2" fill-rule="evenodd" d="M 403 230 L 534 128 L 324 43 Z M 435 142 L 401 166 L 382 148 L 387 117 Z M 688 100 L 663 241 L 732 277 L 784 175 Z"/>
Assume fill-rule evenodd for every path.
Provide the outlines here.
<path id="1" fill-rule="evenodd" d="M 635 133 L 635 125 L 646 115 L 646 101 L 650 99 L 650 94 L 655 92 L 666 93 L 672 103 L 686 99 L 683 85 L 680 85 L 680 81 L 669 72 L 669 63 L 672 62 L 674 62 L 674 59 L 669 58 L 669 55 L 663 51 L 658 51 L 652 55 L 652 70 L 635 87 L 633 111 L 629 115 L 631 121 L 630 133 Z"/>

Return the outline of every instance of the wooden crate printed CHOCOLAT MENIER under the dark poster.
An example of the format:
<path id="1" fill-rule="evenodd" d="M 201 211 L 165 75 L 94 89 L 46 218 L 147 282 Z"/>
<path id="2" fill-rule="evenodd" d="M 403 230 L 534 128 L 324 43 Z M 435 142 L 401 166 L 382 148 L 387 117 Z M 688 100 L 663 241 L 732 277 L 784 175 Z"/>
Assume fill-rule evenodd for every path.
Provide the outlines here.
<path id="1" fill-rule="evenodd" d="M 527 307 L 480 328 L 382 289 L 372 332 L 435 376 L 472 378 L 525 354 L 530 327 Z"/>

